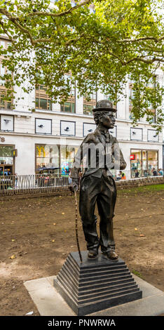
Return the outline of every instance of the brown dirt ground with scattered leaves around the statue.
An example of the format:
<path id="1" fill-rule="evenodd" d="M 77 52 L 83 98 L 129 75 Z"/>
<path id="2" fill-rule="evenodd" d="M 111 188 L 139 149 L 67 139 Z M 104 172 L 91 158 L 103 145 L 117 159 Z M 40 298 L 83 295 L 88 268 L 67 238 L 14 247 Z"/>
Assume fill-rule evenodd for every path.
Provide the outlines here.
<path id="1" fill-rule="evenodd" d="M 118 190 L 116 251 L 135 275 L 164 291 L 164 185 Z M 96 210 L 97 213 L 97 210 Z M 0 199 L 0 315 L 39 315 L 23 282 L 57 275 L 77 251 L 74 196 Z M 78 217 L 81 251 L 86 250 Z"/>

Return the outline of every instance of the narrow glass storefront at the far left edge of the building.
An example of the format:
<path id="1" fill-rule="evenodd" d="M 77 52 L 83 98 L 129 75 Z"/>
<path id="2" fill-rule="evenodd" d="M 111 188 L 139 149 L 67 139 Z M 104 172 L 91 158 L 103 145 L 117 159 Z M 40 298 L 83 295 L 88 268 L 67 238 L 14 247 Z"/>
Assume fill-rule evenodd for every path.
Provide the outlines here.
<path id="1" fill-rule="evenodd" d="M 0 145 L 0 176 L 13 175 L 14 147 L 12 145 Z"/>

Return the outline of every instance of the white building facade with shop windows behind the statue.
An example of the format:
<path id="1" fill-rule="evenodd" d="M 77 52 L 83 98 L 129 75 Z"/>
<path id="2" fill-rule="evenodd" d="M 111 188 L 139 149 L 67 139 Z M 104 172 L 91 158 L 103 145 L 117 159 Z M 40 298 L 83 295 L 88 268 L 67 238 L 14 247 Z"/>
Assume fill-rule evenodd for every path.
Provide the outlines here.
<path id="1" fill-rule="evenodd" d="M 161 84 L 163 74 L 158 72 Z M 129 86 L 126 91 L 129 95 Z M 18 96 L 22 91 L 18 88 Z M 74 113 L 63 112 L 60 103 L 51 110 L 36 109 L 36 92 L 24 95 L 15 110 L 0 107 L 0 171 L 7 174 L 34 174 L 43 167 L 58 168 L 56 173 L 68 173 L 74 154 L 83 138 L 96 126 L 92 115 L 84 114 L 83 97 L 75 93 Z M 104 99 L 100 91 L 96 101 Z M 130 119 L 129 97 L 117 104 L 116 125 L 110 133 L 116 136 L 127 167 L 127 178 L 153 175 L 152 169 L 163 168 L 163 135 L 146 122 L 138 122 L 134 128 Z"/>

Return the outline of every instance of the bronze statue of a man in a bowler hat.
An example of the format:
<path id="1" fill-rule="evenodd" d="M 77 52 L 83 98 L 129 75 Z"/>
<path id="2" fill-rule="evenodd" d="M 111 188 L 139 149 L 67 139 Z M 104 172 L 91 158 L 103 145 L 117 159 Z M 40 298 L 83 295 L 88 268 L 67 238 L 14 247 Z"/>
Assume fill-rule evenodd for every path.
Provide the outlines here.
<path id="1" fill-rule="evenodd" d="M 97 102 L 93 116 L 97 128 L 88 134 L 79 147 L 71 171 L 71 190 L 78 190 L 78 172 L 86 157 L 86 168 L 81 178 L 79 213 L 87 242 L 88 258 L 96 258 L 98 249 L 109 259 L 117 259 L 114 242 L 114 207 L 116 184 L 110 169 L 125 169 L 126 163 L 116 138 L 109 134 L 114 128 L 116 108 L 109 100 Z M 117 146 L 115 148 L 115 145 Z M 97 235 L 95 204 L 100 215 L 100 237 Z"/>

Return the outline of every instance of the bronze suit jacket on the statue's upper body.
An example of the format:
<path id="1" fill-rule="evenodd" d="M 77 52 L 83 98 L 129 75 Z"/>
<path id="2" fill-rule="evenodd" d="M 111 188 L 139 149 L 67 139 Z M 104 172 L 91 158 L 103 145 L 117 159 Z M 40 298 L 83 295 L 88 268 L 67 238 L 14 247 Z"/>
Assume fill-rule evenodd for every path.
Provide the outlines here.
<path id="1" fill-rule="evenodd" d="M 85 157 L 86 166 L 83 176 L 97 173 L 100 169 L 106 169 L 107 175 L 112 175 L 110 172 L 112 168 L 125 169 L 126 163 L 118 147 L 118 140 L 110 134 L 109 138 L 109 143 L 106 143 L 103 134 L 98 128 L 84 138 L 74 158 L 71 178 L 78 178 L 78 171 L 80 171 L 81 162 Z"/>

